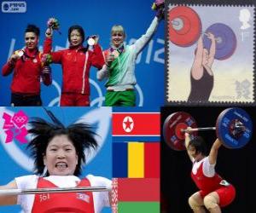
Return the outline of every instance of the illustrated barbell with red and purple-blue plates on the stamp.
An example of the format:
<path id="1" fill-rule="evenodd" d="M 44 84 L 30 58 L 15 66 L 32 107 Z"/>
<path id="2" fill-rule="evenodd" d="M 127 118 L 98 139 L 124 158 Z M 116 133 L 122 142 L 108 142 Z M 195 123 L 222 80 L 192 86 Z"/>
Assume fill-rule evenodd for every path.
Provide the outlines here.
<path id="1" fill-rule="evenodd" d="M 189 47 L 195 44 L 203 34 L 204 48 L 210 50 L 212 41 L 207 37 L 206 32 L 212 32 L 216 37 L 216 53 L 214 58 L 225 60 L 230 58 L 236 50 L 236 34 L 223 23 L 215 23 L 209 26 L 206 32 L 201 32 L 201 18 L 186 6 L 177 6 L 169 10 L 169 39 L 180 47 Z"/>

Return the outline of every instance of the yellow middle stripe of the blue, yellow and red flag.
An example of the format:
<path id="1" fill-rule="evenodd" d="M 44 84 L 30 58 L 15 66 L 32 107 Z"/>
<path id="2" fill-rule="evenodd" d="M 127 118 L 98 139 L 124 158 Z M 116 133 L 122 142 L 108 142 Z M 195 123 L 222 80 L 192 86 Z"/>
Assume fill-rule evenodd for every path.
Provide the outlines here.
<path id="1" fill-rule="evenodd" d="M 128 177 L 144 177 L 144 143 L 128 143 Z"/>

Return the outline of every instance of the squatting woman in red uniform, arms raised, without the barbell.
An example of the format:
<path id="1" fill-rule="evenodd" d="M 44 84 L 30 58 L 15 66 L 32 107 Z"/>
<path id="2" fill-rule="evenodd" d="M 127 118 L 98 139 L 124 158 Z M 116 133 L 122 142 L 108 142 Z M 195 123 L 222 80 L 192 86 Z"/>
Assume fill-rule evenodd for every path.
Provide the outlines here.
<path id="1" fill-rule="evenodd" d="M 185 147 L 193 163 L 191 177 L 200 191 L 189 197 L 189 206 L 194 212 L 221 213 L 221 208 L 233 202 L 236 189 L 215 171 L 218 148 L 222 142 L 214 141 L 209 155 L 205 141 L 200 136 L 190 138 L 189 127 L 185 132 Z"/>

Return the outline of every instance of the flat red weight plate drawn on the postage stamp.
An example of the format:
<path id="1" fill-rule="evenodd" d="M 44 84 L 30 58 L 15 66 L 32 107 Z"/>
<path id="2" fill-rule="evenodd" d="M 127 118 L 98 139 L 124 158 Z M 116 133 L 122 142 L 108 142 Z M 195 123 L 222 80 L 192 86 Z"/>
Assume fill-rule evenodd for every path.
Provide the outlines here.
<path id="1" fill-rule="evenodd" d="M 177 6 L 169 10 L 169 39 L 180 47 L 189 47 L 201 35 L 201 19 L 194 9 Z M 176 25 L 176 26 L 175 26 Z"/>

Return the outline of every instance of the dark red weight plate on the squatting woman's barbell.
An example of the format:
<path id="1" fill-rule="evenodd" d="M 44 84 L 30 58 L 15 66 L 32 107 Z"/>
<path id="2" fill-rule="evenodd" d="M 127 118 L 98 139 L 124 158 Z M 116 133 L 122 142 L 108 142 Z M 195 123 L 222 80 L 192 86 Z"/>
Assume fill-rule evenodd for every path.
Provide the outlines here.
<path id="1" fill-rule="evenodd" d="M 189 113 L 175 112 L 169 115 L 163 126 L 163 135 L 166 144 L 177 151 L 185 150 L 185 137 L 181 130 L 187 127 L 197 128 L 195 119 Z M 197 135 L 197 132 L 193 132 L 192 135 Z"/>

